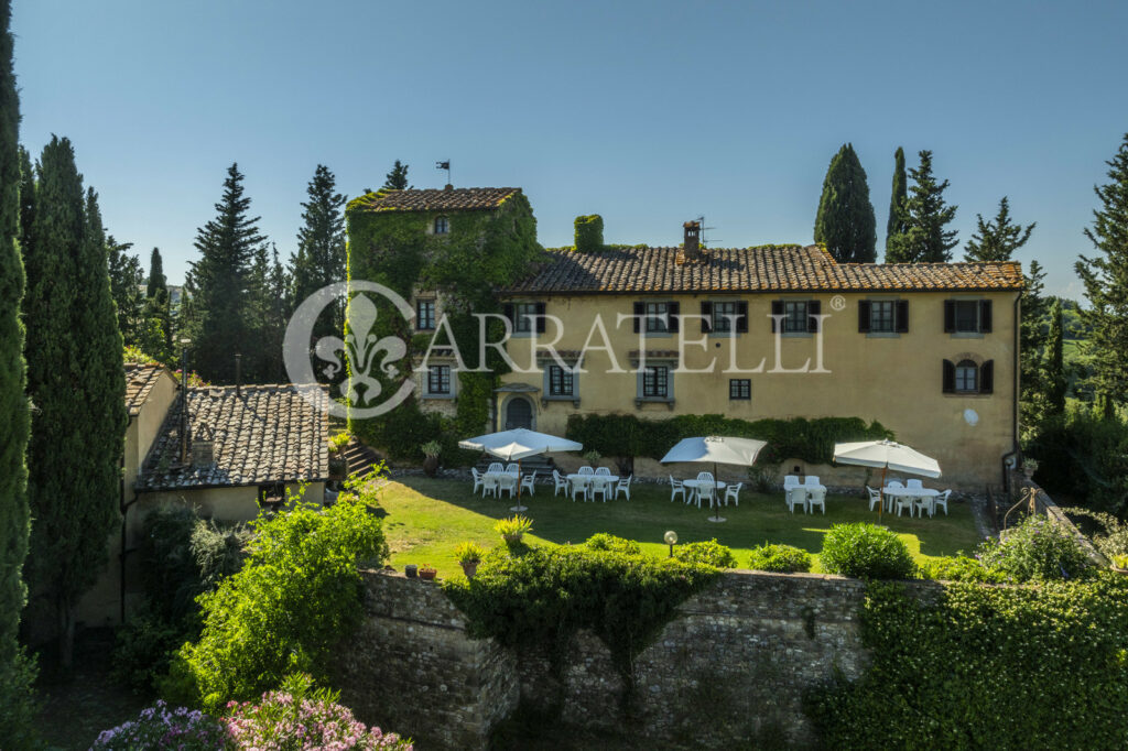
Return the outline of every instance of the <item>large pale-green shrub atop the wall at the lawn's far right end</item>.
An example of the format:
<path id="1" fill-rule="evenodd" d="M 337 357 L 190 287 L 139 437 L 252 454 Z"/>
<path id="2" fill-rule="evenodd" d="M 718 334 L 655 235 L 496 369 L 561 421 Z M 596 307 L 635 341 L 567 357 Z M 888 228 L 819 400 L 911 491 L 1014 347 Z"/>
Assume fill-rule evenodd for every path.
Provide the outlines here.
<path id="1" fill-rule="evenodd" d="M 979 558 L 1016 582 L 1085 578 L 1093 571 L 1093 562 L 1077 541 L 1041 515 L 1026 516 L 1002 541 L 984 542 Z"/>

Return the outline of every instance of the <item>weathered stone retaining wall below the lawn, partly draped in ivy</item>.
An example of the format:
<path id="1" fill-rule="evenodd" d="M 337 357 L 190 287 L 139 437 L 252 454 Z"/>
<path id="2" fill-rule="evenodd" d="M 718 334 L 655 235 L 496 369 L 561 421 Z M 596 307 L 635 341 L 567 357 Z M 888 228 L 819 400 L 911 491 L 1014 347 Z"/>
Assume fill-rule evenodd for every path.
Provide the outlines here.
<path id="1" fill-rule="evenodd" d="M 653 748 L 721 748 L 758 734 L 805 745 L 804 691 L 835 671 L 855 679 L 870 661 L 858 633 L 862 582 L 725 572 L 638 655 L 624 705 L 610 653 L 589 633 L 557 677 L 547 654 L 469 638 L 434 583 L 391 572 L 365 572 L 364 582 L 365 619 L 341 653 L 342 701 L 424 750 L 486 748 L 519 701 L 556 707 L 587 728 L 627 730 Z M 927 597 L 927 584 L 913 586 Z"/>

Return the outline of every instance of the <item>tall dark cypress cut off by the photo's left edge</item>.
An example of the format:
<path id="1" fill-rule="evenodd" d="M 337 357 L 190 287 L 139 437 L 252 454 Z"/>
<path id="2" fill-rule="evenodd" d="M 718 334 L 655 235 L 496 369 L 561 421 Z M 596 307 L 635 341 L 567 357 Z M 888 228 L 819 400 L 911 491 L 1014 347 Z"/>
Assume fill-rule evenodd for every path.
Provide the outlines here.
<path id="1" fill-rule="evenodd" d="M 17 640 L 27 602 L 24 559 L 29 532 L 26 452 L 30 410 L 24 392 L 24 325 L 19 308 L 26 279 L 18 238 L 23 204 L 34 201 L 30 167 L 19 148 L 19 95 L 12 72 L 11 3 L 0 0 L 0 748 L 30 746 L 33 663 Z"/>

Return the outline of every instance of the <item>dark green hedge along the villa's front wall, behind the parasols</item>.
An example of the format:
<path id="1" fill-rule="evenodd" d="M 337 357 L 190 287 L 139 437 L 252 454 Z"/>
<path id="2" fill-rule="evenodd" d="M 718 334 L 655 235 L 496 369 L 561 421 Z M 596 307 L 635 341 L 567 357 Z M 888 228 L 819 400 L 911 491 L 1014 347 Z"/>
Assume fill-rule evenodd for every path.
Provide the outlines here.
<path id="1" fill-rule="evenodd" d="M 758 465 L 779 463 L 792 457 L 828 465 L 835 443 L 893 438 L 892 431 L 860 417 L 807 419 L 737 419 L 724 415 L 679 415 L 644 419 L 634 415 L 571 415 L 565 435 L 605 457 L 661 459 L 675 443 L 696 435 L 731 435 L 767 441 Z"/>

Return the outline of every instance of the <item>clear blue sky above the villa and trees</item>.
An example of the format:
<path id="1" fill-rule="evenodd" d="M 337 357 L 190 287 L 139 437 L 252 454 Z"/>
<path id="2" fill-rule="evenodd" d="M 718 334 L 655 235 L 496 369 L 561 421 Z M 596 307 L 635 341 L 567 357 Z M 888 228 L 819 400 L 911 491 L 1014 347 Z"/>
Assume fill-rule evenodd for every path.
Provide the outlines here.
<path id="1" fill-rule="evenodd" d="M 1092 186 L 1128 131 L 1125 2 L 14 0 L 20 138 L 68 135 L 105 221 L 171 281 L 226 168 L 283 256 L 317 164 L 349 195 L 520 186 L 546 246 L 811 241 L 854 143 L 879 232 L 892 154 L 932 149 L 962 244 L 1003 195 L 1020 259 L 1078 297 Z M 879 249 L 883 238 L 879 238 Z"/>

